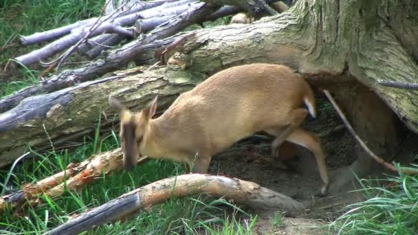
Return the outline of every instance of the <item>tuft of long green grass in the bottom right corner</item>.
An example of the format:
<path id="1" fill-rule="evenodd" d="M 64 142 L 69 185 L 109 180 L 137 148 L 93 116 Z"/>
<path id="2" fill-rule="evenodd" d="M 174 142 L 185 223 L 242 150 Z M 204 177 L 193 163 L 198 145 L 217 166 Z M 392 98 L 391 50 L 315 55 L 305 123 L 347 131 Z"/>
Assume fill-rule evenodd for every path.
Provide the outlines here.
<path id="1" fill-rule="evenodd" d="M 392 183 L 384 188 L 382 183 Z M 339 234 L 416 234 L 418 232 L 418 176 L 401 174 L 380 180 L 360 180 L 368 198 L 349 206 L 331 223 Z"/>

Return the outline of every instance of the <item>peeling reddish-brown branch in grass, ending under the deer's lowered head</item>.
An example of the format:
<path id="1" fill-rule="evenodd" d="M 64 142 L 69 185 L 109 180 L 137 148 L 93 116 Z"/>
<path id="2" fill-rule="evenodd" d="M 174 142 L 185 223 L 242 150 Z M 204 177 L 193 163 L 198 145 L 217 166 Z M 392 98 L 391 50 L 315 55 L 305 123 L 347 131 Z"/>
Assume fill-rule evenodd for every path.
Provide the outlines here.
<path id="1" fill-rule="evenodd" d="M 138 164 L 146 161 L 147 157 L 138 160 Z M 32 206 L 41 203 L 39 197 L 59 197 L 65 191 L 79 191 L 88 183 L 100 179 L 103 175 L 122 169 L 122 150 L 117 148 L 105 153 L 92 155 L 78 164 L 71 163 L 62 172 L 42 179 L 36 183 L 28 183 L 17 192 L 0 197 L 0 211 L 7 207 L 16 207 L 22 203 L 30 203 Z"/>

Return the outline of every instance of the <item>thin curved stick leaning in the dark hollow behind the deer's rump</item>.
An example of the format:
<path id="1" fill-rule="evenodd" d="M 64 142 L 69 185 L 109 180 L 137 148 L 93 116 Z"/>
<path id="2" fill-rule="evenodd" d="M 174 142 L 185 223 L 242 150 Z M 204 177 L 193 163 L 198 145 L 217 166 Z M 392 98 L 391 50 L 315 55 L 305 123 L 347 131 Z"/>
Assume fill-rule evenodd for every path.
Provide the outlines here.
<path id="1" fill-rule="evenodd" d="M 340 117 L 342 119 L 342 122 L 344 122 L 344 125 L 347 127 L 347 129 L 349 130 L 349 132 L 351 133 L 351 135 L 353 135 L 353 137 L 355 138 L 355 140 L 360 144 L 360 146 L 362 146 L 362 148 L 364 149 L 364 151 L 366 151 L 366 153 L 369 154 L 373 159 L 375 159 L 375 161 L 378 164 L 381 164 L 387 170 L 390 170 L 392 172 L 398 172 L 398 170 L 395 168 L 395 166 L 393 166 L 392 164 L 389 164 L 387 161 L 385 161 L 384 159 L 382 159 L 382 157 L 378 157 L 377 155 L 375 155 L 375 153 L 373 153 L 373 151 L 368 146 L 366 146 L 366 144 L 364 144 L 364 142 L 362 141 L 362 139 L 357 135 L 357 133 L 355 133 L 353 127 L 351 126 L 351 124 L 349 123 L 349 121 L 347 120 L 347 118 L 345 117 L 344 113 L 342 113 L 340 107 L 338 107 L 338 104 L 336 103 L 336 100 L 334 100 L 332 98 L 332 96 L 329 93 L 329 91 L 323 90 L 323 92 L 325 93 L 325 96 L 327 96 L 329 102 L 331 102 L 331 104 L 334 107 L 334 109 L 336 109 L 338 115 L 340 115 Z M 401 169 L 401 172 L 404 173 L 404 174 L 406 174 L 406 175 L 417 175 L 418 174 L 418 171 L 417 170 Z"/>

